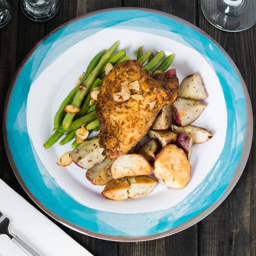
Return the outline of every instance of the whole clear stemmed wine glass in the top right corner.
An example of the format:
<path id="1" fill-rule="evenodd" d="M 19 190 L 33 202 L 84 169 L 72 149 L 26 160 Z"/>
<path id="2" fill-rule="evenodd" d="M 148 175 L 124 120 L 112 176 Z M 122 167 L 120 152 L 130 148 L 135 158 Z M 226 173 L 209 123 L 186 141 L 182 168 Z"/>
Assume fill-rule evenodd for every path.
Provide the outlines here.
<path id="1" fill-rule="evenodd" d="M 207 20 L 230 32 L 249 29 L 256 23 L 256 0 L 201 0 Z"/>

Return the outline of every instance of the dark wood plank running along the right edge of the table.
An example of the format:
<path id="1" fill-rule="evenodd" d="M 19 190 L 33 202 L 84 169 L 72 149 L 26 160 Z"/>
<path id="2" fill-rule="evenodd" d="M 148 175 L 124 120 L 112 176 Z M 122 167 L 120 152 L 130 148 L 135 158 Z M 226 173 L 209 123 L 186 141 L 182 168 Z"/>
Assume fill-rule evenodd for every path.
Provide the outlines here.
<path id="1" fill-rule="evenodd" d="M 253 35 L 256 27 L 243 32 L 223 32 L 212 26 L 201 11 L 199 27 L 233 59 L 244 78 L 255 110 L 256 39 Z M 256 255 L 255 142 L 254 137 L 248 164 L 233 191 L 199 223 L 201 255 Z"/>

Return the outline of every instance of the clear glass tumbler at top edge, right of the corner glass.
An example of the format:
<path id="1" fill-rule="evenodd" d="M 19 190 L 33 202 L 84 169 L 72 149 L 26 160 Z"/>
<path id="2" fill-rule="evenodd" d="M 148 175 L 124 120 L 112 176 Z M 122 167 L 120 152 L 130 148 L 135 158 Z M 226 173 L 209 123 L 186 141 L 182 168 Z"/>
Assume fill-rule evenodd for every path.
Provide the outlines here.
<path id="1" fill-rule="evenodd" d="M 30 20 L 46 21 L 58 12 L 60 3 L 59 0 L 20 0 L 20 7 Z"/>

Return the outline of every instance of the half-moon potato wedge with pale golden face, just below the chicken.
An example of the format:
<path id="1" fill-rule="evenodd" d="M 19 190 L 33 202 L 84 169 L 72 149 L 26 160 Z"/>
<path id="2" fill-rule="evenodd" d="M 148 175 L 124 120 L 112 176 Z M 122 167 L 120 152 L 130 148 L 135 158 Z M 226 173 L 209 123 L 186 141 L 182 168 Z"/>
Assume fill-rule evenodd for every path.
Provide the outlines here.
<path id="1" fill-rule="evenodd" d="M 149 175 L 151 165 L 141 154 L 125 154 L 117 157 L 111 166 L 110 173 L 113 179 L 126 176 Z"/>

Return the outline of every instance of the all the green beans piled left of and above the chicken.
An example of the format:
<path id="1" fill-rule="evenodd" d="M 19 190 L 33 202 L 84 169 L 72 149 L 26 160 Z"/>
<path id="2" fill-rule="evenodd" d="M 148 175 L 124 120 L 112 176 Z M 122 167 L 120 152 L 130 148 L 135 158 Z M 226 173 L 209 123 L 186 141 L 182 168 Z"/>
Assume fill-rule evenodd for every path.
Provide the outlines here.
<path id="1" fill-rule="evenodd" d="M 121 61 L 131 59 L 129 55 L 126 55 L 125 49 L 116 52 L 118 45 L 119 41 L 116 41 L 109 49 L 97 53 L 90 61 L 80 83 L 70 91 L 55 113 L 52 130 L 54 133 L 49 137 L 47 142 L 44 143 L 45 148 L 51 147 L 64 134 L 65 137 L 60 141 L 60 145 L 74 140 L 76 129 L 81 128 L 81 125 L 85 125 L 85 128 L 89 132 L 99 131 L 99 120 L 95 112 L 97 102 L 90 105 L 90 92 L 95 87 L 102 84 L 105 78 L 105 66 L 108 62 L 115 66 Z M 137 49 L 137 60 L 140 61 L 143 68 L 148 70 L 149 73 L 163 73 L 169 68 L 174 59 L 174 55 L 168 55 L 166 58 L 164 58 L 164 56 L 165 52 L 162 50 L 154 56 L 153 52 L 143 53 L 142 46 Z M 64 112 L 64 107 L 69 104 L 80 108 L 80 111 L 78 113 Z M 72 148 L 78 145 L 79 143 L 74 141 Z"/>

